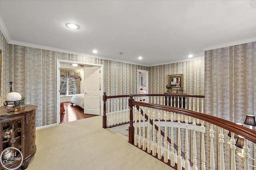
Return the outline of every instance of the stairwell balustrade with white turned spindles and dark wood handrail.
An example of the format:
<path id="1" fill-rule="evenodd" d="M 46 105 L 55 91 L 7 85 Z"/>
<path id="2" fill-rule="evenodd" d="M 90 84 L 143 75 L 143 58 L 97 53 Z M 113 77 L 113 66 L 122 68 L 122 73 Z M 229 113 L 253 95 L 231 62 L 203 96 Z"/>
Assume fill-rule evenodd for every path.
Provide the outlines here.
<path id="1" fill-rule="evenodd" d="M 111 107 L 116 109 L 110 107 L 108 111 L 104 111 L 106 114 L 103 116 L 103 127 L 129 123 L 129 143 L 174 169 L 224 170 L 229 167 L 231 170 L 249 170 L 254 166 L 252 157 L 256 132 L 236 123 L 204 114 L 202 96 L 199 99 L 196 96 L 177 97 L 156 94 L 147 97 L 146 100 L 150 103 L 133 100 L 132 95 L 122 96 L 122 100 L 110 96 L 108 100 L 116 100 L 116 105 L 112 104 L 115 102 L 110 102 Z M 135 95 L 135 98 L 138 96 Z M 122 106 L 117 105 L 120 101 L 124 103 Z M 127 103 L 129 108 L 124 107 Z M 192 110 L 189 110 L 191 108 Z M 113 121 L 120 115 L 124 118 L 118 119 L 119 122 Z M 112 121 L 104 124 L 104 121 L 108 120 Z M 228 137 L 228 132 L 231 133 L 231 138 Z M 235 137 L 244 144 L 238 146 L 238 139 L 235 140 Z"/>

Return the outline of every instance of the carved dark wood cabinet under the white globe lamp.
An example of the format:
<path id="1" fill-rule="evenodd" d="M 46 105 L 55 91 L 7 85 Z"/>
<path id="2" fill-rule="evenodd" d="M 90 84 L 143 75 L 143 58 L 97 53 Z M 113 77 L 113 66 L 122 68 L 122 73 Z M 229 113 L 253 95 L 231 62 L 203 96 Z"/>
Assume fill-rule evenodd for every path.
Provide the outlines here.
<path id="1" fill-rule="evenodd" d="M 26 169 L 36 153 L 36 108 L 34 105 L 8 112 L 0 107 L 0 170 Z M 9 149 L 8 149 L 9 148 Z M 5 152 L 3 152 L 5 151 Z"/>

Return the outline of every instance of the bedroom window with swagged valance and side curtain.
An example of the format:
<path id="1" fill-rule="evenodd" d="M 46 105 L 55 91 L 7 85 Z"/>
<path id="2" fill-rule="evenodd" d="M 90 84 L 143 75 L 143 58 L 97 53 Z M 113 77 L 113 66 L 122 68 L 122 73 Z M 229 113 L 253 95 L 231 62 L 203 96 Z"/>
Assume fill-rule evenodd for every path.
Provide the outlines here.
<path id="1" fill-rule="evenodd" d="M 60 70 L 60 96 L 80 94 L 80 72 Z"/>

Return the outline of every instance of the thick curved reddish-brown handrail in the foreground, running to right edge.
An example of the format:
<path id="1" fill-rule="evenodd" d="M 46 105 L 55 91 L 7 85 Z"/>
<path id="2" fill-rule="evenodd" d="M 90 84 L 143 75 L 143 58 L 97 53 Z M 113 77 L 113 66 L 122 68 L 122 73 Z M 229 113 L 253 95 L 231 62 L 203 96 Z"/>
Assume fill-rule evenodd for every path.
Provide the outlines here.
<path id="1" fill-rule="evenodd" d="M 178 108 L 178 107 L 162 106 L 162 105 L 158 105 L 158 104 L 148 104 L 148 103 L 144 103 L 144 102 L 132 101 L 132 105 L 150 107 L 150 108 L 160 109 L 160 110 L 165 110 L 165 111 L 172 111 L 172 112 L 180 113 L 183 115 L 195 117 L 197 119 L 201 119 L 208 123 L 212 123 L 213 125 L 216 125 L 218 127 L 222 127 L 228 131 L 231 131 L 237 135 L 240 135 L 240 136 L 248 139 L 249 141 L 252 141 L 253 143 L 256 143 L 256 131 L 249 129 L 247 127 L 241 126 L 241 125 L 237 125 L 236 123 L 233 123 L 231 121 L 227 121 L 225 119 L 221 119 L 221 118 L 212 116 L 212 115 L 200 113 L 197 111 L 182 109 L 182 108 Z"/>

